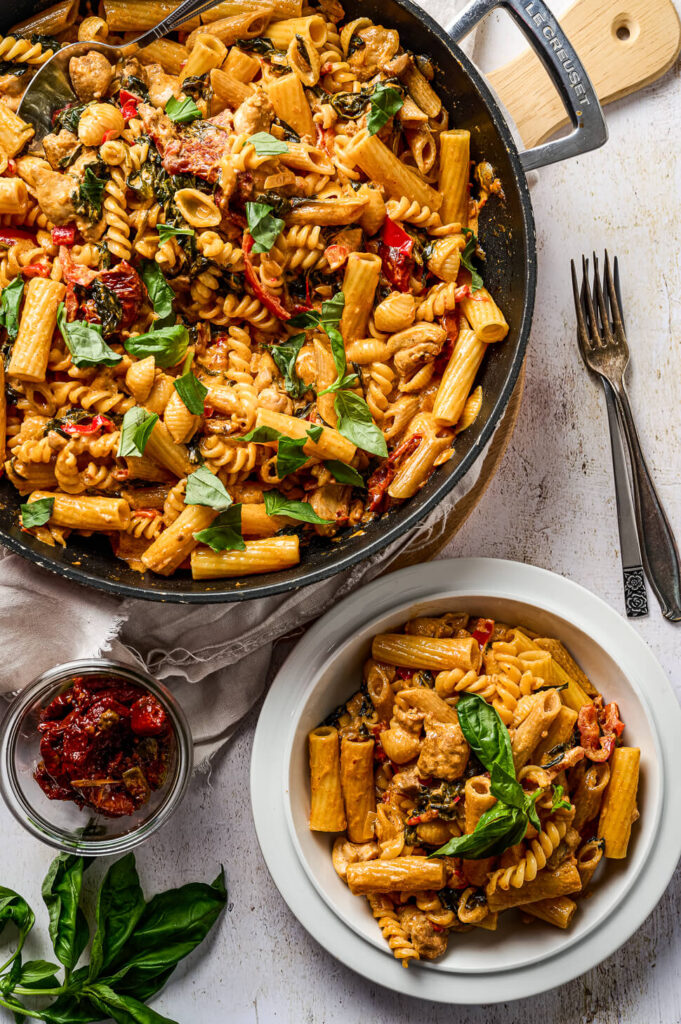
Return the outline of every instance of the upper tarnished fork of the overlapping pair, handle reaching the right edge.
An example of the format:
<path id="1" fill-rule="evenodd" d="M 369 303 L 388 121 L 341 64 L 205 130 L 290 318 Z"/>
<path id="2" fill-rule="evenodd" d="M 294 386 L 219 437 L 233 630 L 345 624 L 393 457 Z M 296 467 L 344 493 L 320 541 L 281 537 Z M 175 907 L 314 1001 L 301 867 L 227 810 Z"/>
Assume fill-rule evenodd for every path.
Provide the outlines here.
<path id="1" fill-rule="evenodd" d="M 571 262 L 572 290 L 578 321 L 578 340 L 582 358 L 609 387 L 629 450 L 634 510 L 643 566 L 663 614 L 672 622 L 681 620 L 681 571 L 676 541 L 662 506 L 638 439 L 634 417 L 625 388 L 629 366 L 629 346 L 625 335 L 622 304 L 618 295 L 607 252 L 603 266 L 605 291 L 601 285 L 598 260 L 594 253 L 593 294 L 589 284 L 589 264 L 582 257 L 583 287 L 578 286 L 574 262 Z M 623 550 L 623 562 L 625 552 Z M 625 565 L 625 567 L 627 567 Z"/>

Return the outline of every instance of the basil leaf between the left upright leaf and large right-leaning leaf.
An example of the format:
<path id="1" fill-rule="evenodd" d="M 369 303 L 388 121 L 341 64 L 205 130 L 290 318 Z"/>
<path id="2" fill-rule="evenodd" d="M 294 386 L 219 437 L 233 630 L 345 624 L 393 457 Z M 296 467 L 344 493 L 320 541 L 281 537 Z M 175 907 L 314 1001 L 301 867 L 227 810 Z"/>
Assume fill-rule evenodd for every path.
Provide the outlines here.
<path id="1" fill-rule="evenodd" d="M 95 909 L 97 930 L 90 951 L 90 981 L 116 959 L 135 930 L 144 906 L 135 856 L 127 853 L 112 864 L 99 886 Z"/>

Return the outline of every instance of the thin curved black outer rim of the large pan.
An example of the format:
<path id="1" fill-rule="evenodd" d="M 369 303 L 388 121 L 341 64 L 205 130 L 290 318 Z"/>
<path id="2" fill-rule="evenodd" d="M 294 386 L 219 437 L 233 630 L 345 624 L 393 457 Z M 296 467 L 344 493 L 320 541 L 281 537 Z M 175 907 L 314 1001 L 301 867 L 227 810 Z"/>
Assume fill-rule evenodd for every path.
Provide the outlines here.
<path id="1" fill-rule="evenodd" d="M 443 498 L 445 498 L 445 496 L 457 485 L 457 483 L 463 479 L 466 473 L 471 469 L 473 464 L 482 454 L 495 429 L 499 425 L 504 411 L 510 401 L 513 389 L 515 388 L 520 374 L 520 369 L 524 361 L 529 331 L 533 323 L 535 298 L 537 293 L 537 237 L 531 199 L 529 196 L 525 172 L 520 163 L 518 147 L 513 138 L 508 122 L 502 113 L 499 101 L 492 91 L 492 88 L 484 80 L 482 74 L 472 63 L 449 33 L 445 32 L 445 30 L 438 25 L 427 11 L 419 7 L 418 4 L 413 2 L 413 0 L 394 0 L 394 2 L 399 7 L 408 11 L 413 17 L 425 25 L 426 28 L 437 37 L 437 39 L 449 51 L 452 59 L 458 61 L 465 74 L 471 80 L 474 88 L 477 90 L 486 106 L 487 114 L 493 122 L 495 130 L 500 135 L 501 140 L 506 147 L 515 184 L 519 193 L 519 206 L 526 250 L 522 316 L 518 330 L 516 352 L 513 357 L 510 371 L 504 382 L 504 386 L 497 396 L 495 404 L 490 416 L 487 417 L 487 421 L 484 424 L 478 439 L 471 446 L 470 451 L 466 453 L 451 476 L 443 478 L 441 483 L 433 490 L 433 494 L 422 505 L 419 505 L 418 507 L 415 506 L 413 511 L 408 511 L 407 514 L 403 517 L 400 517 L 394 524 L 390 524 L 388 520 L 386 520 L 387 528 L 373 538 L 371 543 L 366 547 L 359 547 L 357 550 L 349 551 L 339 558 L 330 557 L 328 564 L 309 569 L 300 581 L 276 580 L 275 574 L 270 573 L 274 577 L 272 582 L 263 582 L 255 585 L 251 585 L 249 582 L 248 588 L 244 589 L 240 589 L 240 586 L 243 587 L 243 584 L 239 580 L 210 581 L 210 585 L 214 585 L 215 587 L 224 587 L 224 585 L 227 584 L 229 587 L 228 590 L 206 589 L 201 591 L 175 591 L 162 587 L 144 589 L 141 586 L 134 586 L 129 583 L 103 579 L 102 577 L 89 571 L 87 568 L 77 565 L 58 564 L 50 558 L 48 554 L 43 554 L 31 545 L 26 544 L 22 540 L 20 536 L 12 536 L 11 534 L 0 529 L 0 542 L 14 554 L 20 555 L 33 562 L 35 565 L 38 565 L 40 568 L 47 569 L 55 575 L 69 580 L 72 583 L 80 584 L 83 587 L 90 587 L 94 590 L 108 593 L 118 598 L 136 598 L 138 600 L 166 602 L 172 604 L 229 604 L 237 601 L 272 597 L 276 594 L 288 593 L 302 587 L 309 587 L 313 584 L 321 583 L 324 580 L 328 580 L 332 575 L 337 575 L 345 571 L 352 565 L 356 565 L 358 562 L 365 561 L 372 555 L 383 551 L 390 544 L 394 543 L 400 537 L 403 537 L 411 529 L 417 526 L 419 522 L 422 521 L 428 513 L 443 500 Z M 140 578 L 140 584 L 142 578 Z M 190 583 L 196 583 L 196 581 L 190 581 Z"/>

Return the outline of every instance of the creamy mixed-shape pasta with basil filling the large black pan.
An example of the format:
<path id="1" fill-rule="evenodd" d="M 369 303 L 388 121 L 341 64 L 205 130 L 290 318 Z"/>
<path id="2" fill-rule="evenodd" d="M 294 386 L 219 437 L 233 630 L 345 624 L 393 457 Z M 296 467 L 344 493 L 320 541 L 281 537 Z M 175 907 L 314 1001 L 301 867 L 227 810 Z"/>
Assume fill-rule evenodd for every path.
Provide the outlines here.
<path id="1" fill-rule="evenodd" d="M 0 465 L 46 545 L 240 577 L 452 458 L 508 333 L 477 240 L 501 185 L 428 59 L 338 0 L 96 49 L 173 6 L 63 0 L 0 37 Z M 22 92 L 74 40 L 77 100 L 36 144 Z"/>

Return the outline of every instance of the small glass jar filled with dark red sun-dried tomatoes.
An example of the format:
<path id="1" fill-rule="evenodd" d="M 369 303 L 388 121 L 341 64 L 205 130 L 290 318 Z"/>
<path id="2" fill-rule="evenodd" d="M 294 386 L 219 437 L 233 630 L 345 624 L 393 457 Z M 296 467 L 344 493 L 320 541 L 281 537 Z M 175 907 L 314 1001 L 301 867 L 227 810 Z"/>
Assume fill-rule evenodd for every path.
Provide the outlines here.
<path id="1" fill-rule="evenodd" d="M 70 662 L 22 690 L 0 726 L 0 792 L 34 836 L 69 853 L 138 846 L 180 803 L 191 733 L 170 690 L 118 662 Z"/>

